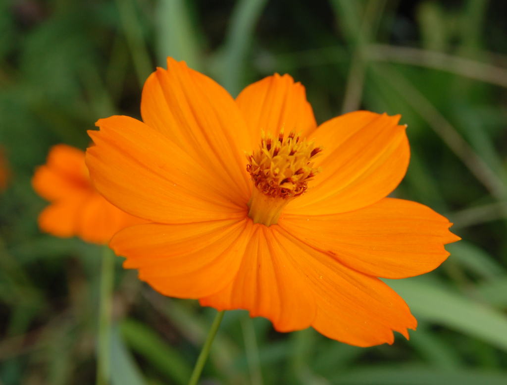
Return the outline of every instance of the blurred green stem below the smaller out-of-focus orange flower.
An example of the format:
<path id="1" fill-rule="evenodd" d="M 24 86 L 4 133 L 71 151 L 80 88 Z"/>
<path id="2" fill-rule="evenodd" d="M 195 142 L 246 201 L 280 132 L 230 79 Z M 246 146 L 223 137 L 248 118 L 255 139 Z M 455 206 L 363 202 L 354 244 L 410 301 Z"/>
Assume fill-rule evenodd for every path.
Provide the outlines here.
<path id="1" fill-rule="evenodd" d="M 115 274 L 115 255 L 107 246 L 102 249 L 100 271 L 100 296 L 97 346 L 97 385 L 106 385 L 111 378 L 111 308 L 113 281 Z"/>

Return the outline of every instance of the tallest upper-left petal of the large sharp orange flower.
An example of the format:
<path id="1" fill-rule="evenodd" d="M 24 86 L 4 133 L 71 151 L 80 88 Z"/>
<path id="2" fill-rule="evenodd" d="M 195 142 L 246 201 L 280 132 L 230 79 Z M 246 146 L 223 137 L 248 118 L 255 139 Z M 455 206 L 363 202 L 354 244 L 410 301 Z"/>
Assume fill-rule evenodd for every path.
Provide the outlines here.
<path id="1" fill-rule="evenodd" d="M 234 99 L 185 62 L 168 58 L 167 68 L 158 68 L 144 84 L 143 121 L 249 198 L 244 151 L 251 150 L 250 138 Z"/>

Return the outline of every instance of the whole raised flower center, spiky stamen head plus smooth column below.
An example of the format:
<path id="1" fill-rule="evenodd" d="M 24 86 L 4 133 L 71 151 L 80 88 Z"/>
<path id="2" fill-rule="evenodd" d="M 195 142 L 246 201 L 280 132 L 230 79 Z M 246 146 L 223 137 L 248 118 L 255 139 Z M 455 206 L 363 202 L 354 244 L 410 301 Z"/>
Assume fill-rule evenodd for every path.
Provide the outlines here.
<path id="1" fill-rule="evenodd" d="M 262 133 L 261 145 L 247 156 L 246 165 L 255 185 L 248 202 L 253 223 L 271 226 L 278 222 L 282 209 L 303 194 L 319 172 L 313 160 L 321 151 L 294 131 L 284 138 L 282 129 L 276 139 Z"/>

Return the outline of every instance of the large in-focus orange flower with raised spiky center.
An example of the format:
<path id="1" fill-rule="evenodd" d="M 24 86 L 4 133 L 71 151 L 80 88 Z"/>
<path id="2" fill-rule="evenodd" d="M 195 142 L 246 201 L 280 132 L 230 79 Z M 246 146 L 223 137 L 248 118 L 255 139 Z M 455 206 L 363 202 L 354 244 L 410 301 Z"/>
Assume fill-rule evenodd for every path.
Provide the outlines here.
<path id="1" fill-rule="evenodd" d="M 111 240 L 125 267 L 278 331 L 312 326 L 358 346 L 408 338 L 416 320 L 378 277 L 433 270 L 459 238 L 430 208 L 386 198 L 409 162 L 400 116 L 358 111 L 317 128 L 288 75 L 234 100 L 170 58 L 144 85 L 141 114 L 99 120 L 87 151 L 98 191 L 153 222 Z"/>

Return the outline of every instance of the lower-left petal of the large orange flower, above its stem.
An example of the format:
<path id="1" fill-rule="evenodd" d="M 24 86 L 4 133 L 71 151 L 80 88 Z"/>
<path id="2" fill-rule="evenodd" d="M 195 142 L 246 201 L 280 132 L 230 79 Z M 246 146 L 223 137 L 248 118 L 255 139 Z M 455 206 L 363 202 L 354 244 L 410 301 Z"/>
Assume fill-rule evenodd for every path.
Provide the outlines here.
<path id="1" fill-rule="evenodd" d="M 160 293 L 199 298 L 229 284 L 241 263 L 252 231 L 248 219 L 146 224 L 117 233 L 110 246 L 125 256 L 126 268 Z"/>

